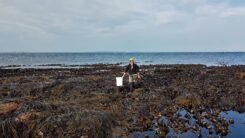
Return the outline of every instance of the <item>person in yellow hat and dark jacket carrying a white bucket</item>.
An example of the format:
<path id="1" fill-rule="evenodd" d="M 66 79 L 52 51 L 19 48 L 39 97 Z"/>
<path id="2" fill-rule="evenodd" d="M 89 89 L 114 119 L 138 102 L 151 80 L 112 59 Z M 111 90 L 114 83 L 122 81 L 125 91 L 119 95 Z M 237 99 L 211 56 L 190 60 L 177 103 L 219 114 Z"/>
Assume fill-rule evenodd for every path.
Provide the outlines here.
<path id="1" fill-rule="evenodd" d="M 137 79 L 140 79 L 139 66 L 135 64 L 134 58 L 129 59 L 129 64 L 127 65 L 122 77 L 124 77 L 126 74 L 129 75 L 129 88 L 132 92 Z"/>

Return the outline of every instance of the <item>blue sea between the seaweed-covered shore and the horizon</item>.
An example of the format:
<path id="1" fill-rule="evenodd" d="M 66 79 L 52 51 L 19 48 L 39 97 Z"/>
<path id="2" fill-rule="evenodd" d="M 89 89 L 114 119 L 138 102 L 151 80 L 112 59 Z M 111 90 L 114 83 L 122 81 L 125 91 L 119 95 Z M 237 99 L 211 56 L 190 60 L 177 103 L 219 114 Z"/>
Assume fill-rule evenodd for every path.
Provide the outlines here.
<path id="1" fill-rule="evenodd" d="M 0 66 L 38 68 L 88 64 L 125 65 L 134 57 L 139 65 L 204 64 L 245 65 L 245 52 L 92 52 L 92 53 L 0 53 Z"/>

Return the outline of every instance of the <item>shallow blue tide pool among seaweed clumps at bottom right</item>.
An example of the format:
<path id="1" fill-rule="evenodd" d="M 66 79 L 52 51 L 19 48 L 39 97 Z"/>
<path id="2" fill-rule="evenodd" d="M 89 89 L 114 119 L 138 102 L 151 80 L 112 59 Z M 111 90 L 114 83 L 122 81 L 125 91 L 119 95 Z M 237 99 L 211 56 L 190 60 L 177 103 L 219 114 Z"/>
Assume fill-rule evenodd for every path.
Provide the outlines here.
<path id="1" fill-rule="evenodd" d="M 213 124 L 209 119 L 204 118 L 202 121 L 205 121 L 209 124 L 211 124 L 212 128 L 211 130 L 213 131 L 212 134 L 209 133 L 209 129 L 205 127 L 200 127 L 200 131 L 193 131 L 192 126 L 196 124 L 196 120 L 193 118 L 192 114 L 188 113 L 186 110 L 182 109 L 176 113 L 179 118 L 181 119 L 187 119 L 186 114 L 189 114 L 190 116 L 188 117 L 189 121 L 189 130 L 187 132 L 175 132 L 173 128 L 168 126 L 168 133 L 166 137 L 180 137 L 180 138 L 192 138 L 192 137 L 218 137 L 221 136 L 220 133 L 216 133 L 215 131 L 215 124 Z M 161 117 L 162 123 L 167 124 L 168 120 L 167 117 L 163 116 Z M 218 119 L 226 119 L 228 122 L 230 119 L 234 120 L 234 123 L 230 123 L 228 126 L 228 134 L 222 137 L 225 138 L 242 138 L 245 137 L 245 113 L 238 113 L 236 111 L 226 111 L 226 112 L 221 112 L 218 116 Z M 156 121 L 156 120 L 154 120 Z M 154 124 L 153 121 L 153 124 Z M 147 131 L 144 132 L 133 132 L 129 135 L 130 138 L 159 138 L 157 131 L 154 126 L 150 128 Z"/>

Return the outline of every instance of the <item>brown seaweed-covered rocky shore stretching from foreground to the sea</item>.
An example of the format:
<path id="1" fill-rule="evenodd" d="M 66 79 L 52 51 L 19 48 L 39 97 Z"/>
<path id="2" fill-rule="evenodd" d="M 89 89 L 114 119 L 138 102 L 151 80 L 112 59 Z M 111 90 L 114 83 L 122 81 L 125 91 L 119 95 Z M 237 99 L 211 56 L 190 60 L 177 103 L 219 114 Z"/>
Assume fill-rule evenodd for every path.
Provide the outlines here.
<path id="1" fill-rule="evenodd" d="M 236 121 L 220 113 L 245 111 L 245 66 L 145 65 L 133 92 L 122 71 L 0 69 L 0 137 L 226 136 Z"/>

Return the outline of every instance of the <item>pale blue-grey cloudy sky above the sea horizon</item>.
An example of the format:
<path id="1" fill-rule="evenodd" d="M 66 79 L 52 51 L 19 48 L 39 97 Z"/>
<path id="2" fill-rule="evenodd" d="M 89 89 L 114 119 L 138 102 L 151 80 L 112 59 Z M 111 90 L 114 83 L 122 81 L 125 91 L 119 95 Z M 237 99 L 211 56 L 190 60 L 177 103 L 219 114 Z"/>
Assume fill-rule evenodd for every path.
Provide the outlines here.
<path id="1" fill-rule="evenodd" d="M 0 0 L 0 52 L 245 51 L 245 0 Z"/>

